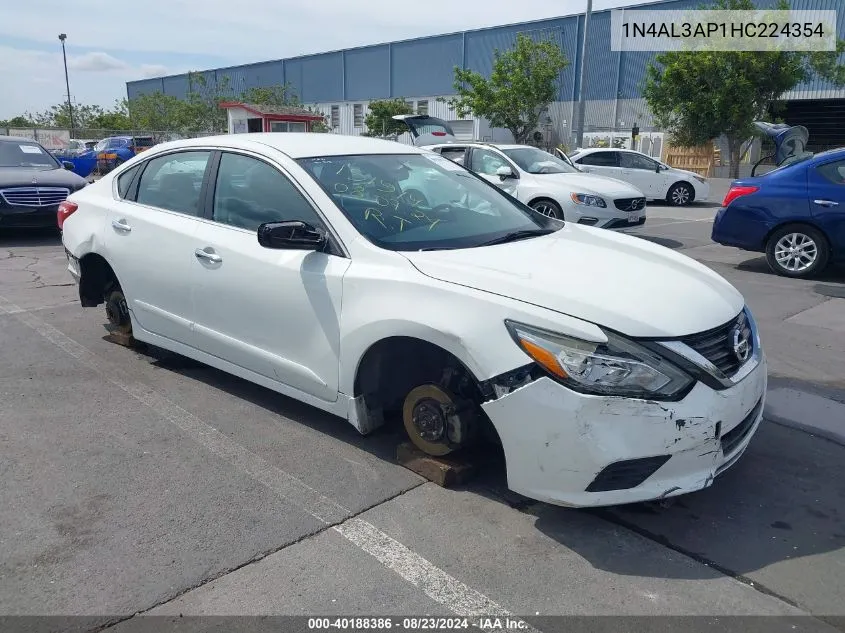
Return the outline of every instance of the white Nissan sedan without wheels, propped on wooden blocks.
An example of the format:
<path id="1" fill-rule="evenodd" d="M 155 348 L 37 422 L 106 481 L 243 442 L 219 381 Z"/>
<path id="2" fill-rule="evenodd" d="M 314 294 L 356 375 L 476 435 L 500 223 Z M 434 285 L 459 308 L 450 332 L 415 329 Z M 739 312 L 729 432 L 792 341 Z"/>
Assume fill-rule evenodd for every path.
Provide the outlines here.
<path id="1" fill-rule="evenodd" d="M 431 174 L 434 171 L 436 177 Z M 424 204 L 405 189 L 422 187 Z M 636 237 L 544 217 L 430 151 L 333 134 L 157 145 L 60 206 L 111 327 L 423 451 L 501 444 L 571 506 L 709 486 L 762 419 L 742 295 Z"/>

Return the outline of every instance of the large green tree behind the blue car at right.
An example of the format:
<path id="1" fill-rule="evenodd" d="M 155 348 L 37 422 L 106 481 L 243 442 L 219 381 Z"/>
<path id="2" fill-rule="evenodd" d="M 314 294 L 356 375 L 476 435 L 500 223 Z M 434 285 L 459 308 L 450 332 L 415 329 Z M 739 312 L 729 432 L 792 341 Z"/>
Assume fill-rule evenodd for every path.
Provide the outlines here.
<path id="1" fill-rule="evenodd" d="M 715 10 L 753 11 L 752 0 L 717 0 Z M 777 10 L 788 10 L 782 0 Z M 680 50 L 662 53 L 646 73 L 643 96 L 655 124 L 673 143 L 699 146 L 725 135 L 730 175 L 739 165 L 753 137 L 754 121 L 770 116 L 777 100 L 798 84 L 821 76 L 845 85 L 845 68 L 837 52 Z"/>

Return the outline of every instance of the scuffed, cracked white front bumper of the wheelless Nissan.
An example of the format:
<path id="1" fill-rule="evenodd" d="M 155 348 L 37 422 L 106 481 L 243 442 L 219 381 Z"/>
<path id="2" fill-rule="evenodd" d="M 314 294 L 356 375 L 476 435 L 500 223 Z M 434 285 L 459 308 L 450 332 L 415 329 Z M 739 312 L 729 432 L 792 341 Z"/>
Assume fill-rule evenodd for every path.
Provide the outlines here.
<path id="1" fill-rule="evenodd" d="M 606 506 L 708 487 L 756 433 L 766 385 L 761 356 L 738 384 L 716 391 L 697 383 L 679 402 L 583 395 L 543 377 L 482 406 L 502 441 L 511 490 Z"/>

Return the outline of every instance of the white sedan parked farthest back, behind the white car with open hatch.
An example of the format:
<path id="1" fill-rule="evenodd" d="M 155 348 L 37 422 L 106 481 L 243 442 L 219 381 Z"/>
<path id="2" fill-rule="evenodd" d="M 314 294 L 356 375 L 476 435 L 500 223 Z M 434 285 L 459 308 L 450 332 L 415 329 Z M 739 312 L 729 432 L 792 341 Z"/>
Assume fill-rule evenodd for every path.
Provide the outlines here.
<path id="1" fill-rule="evenodd" d="M 705 202 L 710 196 L 707 178 L 670 167 L 642 152 L 630 149 L 582 149 L 569 157 L 590 174 L 616 178 L 642 191 L 649 200 L 665 200 L 673 206 Z"/>

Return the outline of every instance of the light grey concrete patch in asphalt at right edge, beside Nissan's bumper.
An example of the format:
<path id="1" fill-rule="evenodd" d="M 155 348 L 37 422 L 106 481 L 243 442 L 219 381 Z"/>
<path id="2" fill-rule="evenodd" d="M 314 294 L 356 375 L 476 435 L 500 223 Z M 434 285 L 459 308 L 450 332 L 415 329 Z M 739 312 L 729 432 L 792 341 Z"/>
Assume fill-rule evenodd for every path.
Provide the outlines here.
<path id="1" fill-rule="evenodd" d="M 788 388 L 766 394 L 763 418 L 845 446 L 845 404 Z"/>

